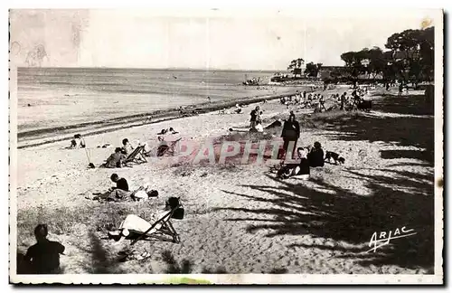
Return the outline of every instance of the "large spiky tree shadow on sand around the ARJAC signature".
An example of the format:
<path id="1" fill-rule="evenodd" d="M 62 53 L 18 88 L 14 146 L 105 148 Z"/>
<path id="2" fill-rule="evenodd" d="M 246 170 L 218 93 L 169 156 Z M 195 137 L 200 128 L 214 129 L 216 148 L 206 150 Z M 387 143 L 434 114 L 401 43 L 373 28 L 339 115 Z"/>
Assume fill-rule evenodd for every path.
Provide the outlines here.
<path id="1" fill-rule="evenodd" d="M 391 171 L 391 170 L 390 170 Z M 391 171 L 393 172 L 393 171 Z M 350 175 L 364 177 L 360 172 Z M 425 181 L 415 181 L 412 174 L 400 173 L 388 176 L 366 175 L 366 186 L 372 196 L 350 193 L 321 179 L 312 179 L 320 188 L 309 188 L 300 181 L 275 180 L 281 186 L 248 185 L 252 190 L 272 194 L 273 198 L 257 195 L 236 194 L 250 201 L 271 203 L 270 208 L 216 208 L 257 217 L 228 219 L 230 221 L 270 222 L 250 224 L 248 232 L 268 231 L 267 237 L 278 235 L 312 235 L 345 241 L 359 248 L 337 248 L 326 245 L 293 243 L 290 247 L 313 247 L 324 250 L 343 250 L 344 258 L 358 259 L 364 266 L 393 264 L 407 268 L 429 268 L 434 264 L 434 198 L 433 186 Z M 416 185 L 413 187 L 413 183 Z M 298 183 L 298 184 L 297 184 Z M 397 188 L 396 192 L 394 189 Z M 407 189 L 408 191 L 400 191 Z M 226 192 L 234 194 L 231 192 Z M 265 216 L 265 219 L 262 219 Z M 417 234 L 391 241 L 377 252 L 369 250 L 368 243 L 373 232 L 393 232 L 406 226 Z"/>

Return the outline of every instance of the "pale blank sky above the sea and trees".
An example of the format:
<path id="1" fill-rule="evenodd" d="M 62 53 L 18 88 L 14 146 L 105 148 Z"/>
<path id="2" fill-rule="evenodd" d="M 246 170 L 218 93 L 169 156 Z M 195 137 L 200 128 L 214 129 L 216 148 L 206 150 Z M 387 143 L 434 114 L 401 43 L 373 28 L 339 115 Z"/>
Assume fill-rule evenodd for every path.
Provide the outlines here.
<path id="1" fill-rule="evenodd" d="M 18 66 L 227 70 L 285 70 L 296 58 L 343 65 L 341 53 L 384 48 L 392 33 L 419 29 L 436 15 L 409 9 L 13 10 L 11 60 Z"/>

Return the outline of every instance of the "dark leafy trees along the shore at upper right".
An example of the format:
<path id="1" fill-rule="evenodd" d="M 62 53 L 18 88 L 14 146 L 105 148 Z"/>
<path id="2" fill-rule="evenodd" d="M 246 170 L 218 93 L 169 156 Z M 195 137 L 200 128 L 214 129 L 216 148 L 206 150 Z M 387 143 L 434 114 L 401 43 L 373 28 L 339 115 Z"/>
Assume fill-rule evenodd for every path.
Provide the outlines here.
<path id="1" fill-rule="evenodd" d="M 399 80 L 417 86 L 419 82 L 434 79 L 434 27 L 394 33 L 388 38 L 385 48 L 385 52 L 379 47 L 344 52 L 341 59 L 345 66 L 333 68 L 324 81 Z"/>

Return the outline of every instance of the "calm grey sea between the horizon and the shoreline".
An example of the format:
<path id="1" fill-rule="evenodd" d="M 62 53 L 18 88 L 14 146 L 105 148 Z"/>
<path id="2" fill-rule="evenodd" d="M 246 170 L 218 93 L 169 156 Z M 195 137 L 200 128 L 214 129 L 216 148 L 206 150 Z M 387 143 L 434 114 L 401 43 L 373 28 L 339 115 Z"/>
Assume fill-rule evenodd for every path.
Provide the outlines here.
<path id="1" fill-rule="evenodd" d="M 245 87 L 246 78 L 265 82 L 269 71 L 20 68 L 18 130 L 103 121 L 157 109 L 278 93 Z"/>

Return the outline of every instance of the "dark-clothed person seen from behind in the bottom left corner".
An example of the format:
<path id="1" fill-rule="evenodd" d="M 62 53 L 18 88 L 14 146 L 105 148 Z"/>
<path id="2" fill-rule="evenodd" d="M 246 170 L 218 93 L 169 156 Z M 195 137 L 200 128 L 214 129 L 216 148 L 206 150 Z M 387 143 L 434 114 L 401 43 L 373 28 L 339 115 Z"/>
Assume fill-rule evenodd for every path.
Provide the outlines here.
<path id="1" fill-rule="evenodd" d="M 63 254 L 65 248 L 58 241 L 49 241 L 48 233 L 47 224 L 39 224 L 34 228 L 37 243 L 24 256 L 24 261 L 29 264 L 33 274 L 61 273 L 60 254 Z"/>

